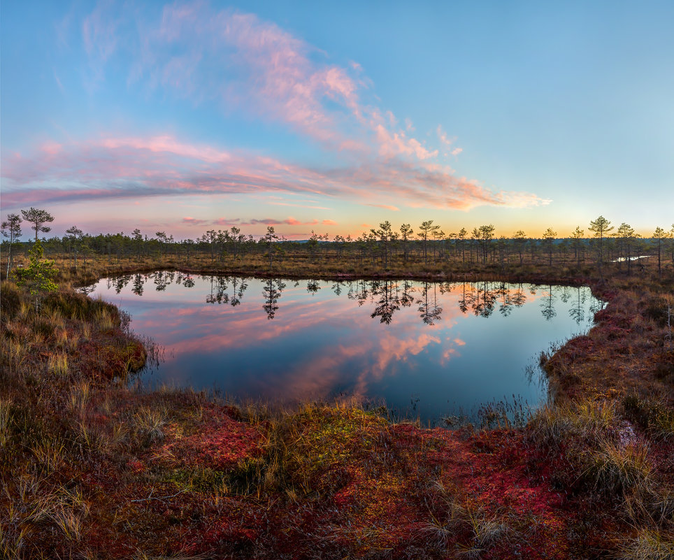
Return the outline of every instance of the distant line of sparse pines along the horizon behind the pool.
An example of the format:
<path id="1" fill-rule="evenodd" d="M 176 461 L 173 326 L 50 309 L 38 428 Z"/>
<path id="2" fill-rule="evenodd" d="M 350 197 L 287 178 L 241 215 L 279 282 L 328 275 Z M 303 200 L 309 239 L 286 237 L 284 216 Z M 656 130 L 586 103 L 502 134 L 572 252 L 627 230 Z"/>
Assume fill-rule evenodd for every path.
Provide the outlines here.
<path id="1" fill-rule="evenodd" d="M 9 214 L 2 222 L 1 232 L 5 238 L 3 252 L 7 255 L 9 273 L 13 267 L 14 256 L 26 250 L 29 243 L 22 243 L 22 222 L 31 224 L 34 242 L 40 234 L 50 231 L 48 223 L 54 217 L 46 210 L 30 208 L 21 210 L 21 215 Z M 493 224 L 483 224 L 468 231 L 461 227 L 458 231 L 443 231 L 439 224 L 427 220 L 413 227 L 401 224 L 394 229 L 391 222 L 385 220 L 378 228 L 372 228 L 356 238 L 315 231 L 306 240 L 288 240 L 280 236 L 273 226 L 266 234 L 254 238 L 232 226 L 229 229 L 210 229 L 194 239 L 175 240 L 165 231 L 143 234 L 134 229 L 131 234 L 85 234 L 73 226 L 66 229 L 62 237 L 42 238 L 46 252 L 69 255 L 73 266 L 86 265 L 87 258 L 98 255 L 108 259 L 135 257 L 138 260 L 148 257 L 178 257 L 189 262 L 194 257 L 206 257 L 210 261 L 225 259 L 243 259 L 249 255 L 262 255 L 273 266 L 274 259 L 303 258 L 308 261 L 324 259 L 349 259 L 353 264 L 372 264 L 389 268 L 392 262 L 396 266 L 405 266 L 410 262 L 438 264 L 443 261 L 460 261 L 464 264 L 491 264 L 505 268 L 512 262 L 524 264 L 547 264 L 553 260 L 580 267 L 587 263 L 595 264 L 601 272 L 602 266 L 609 261 L 619 262 L 626 267 L 628 274 L 638 265 L 637 257 L 644 254 L 657 256 L 658 271 L 662 263 L 671 257 L 674 266 L 674 224 L 666 231 L 657 227 L 650 238 L 642 238 L 626 223 L 615 228 L 603 216 L 591 220 L 587 228 L 580 226 L 559 235 L 547 228 L 541 238 L 527 236 L 519 229 L 510 236 L 497 236 Z"/>

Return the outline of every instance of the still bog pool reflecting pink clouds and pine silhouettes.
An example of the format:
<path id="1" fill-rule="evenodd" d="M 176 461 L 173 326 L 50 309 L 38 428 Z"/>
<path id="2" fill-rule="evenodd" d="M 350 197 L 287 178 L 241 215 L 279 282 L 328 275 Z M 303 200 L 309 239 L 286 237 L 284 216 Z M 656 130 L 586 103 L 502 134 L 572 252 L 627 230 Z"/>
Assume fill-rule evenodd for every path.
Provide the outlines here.
<path id="1" fill-rule="evenodd" d="M 423 420 L 545 400 L 540 352 L 601 308 L 587 287 L 166 272 L 101 280 L 91 295 L 164 347 L 149 385 L 288 403 L 354 395 Z"/>

